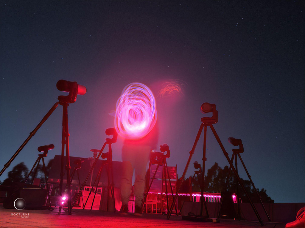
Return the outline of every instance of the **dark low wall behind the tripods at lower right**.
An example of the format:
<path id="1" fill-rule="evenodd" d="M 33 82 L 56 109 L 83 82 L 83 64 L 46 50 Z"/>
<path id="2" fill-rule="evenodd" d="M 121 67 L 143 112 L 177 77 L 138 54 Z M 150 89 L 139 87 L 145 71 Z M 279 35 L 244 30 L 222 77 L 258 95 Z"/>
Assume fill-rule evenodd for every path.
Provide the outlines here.
<path id="1" fill-rule="evenodd" d="M 207 202 L 206 205 L 209 216 L 211 218 L 217 218 L 220 203 Z M 268 219 L 261 204 L 255 203 L 254 206 L 256 207 L 261 219 L 267 222 Z M 269 214 L 271 222 L 289 223 L 296 219 L 296 213 L 305 206 L 305 203 L 264 203 L 264 206 Z M 234 204 L 234 207 L 237 213 L 236 203 Z M 241 203 L 240 209 L 242 218 L 253 221 L 257 220 L 257 217 L 249 203 Z M 188 215 L 188 212 L 200 215 L 200 202 L 185 202 L 181 210 L 181 215 Z M 203 215 L 205 214 L 205 209 L 203 208 Z"/>

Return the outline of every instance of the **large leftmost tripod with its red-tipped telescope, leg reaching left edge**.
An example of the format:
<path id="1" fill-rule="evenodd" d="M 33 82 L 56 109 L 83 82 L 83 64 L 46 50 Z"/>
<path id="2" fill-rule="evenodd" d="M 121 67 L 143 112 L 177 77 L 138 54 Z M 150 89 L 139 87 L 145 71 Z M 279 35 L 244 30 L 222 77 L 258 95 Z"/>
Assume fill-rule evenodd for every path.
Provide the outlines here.
<path id="1" fill-rule="evenodd" d="M 59 185 L 59 194 L 62 196 L 63 192 L 63 176 L 64 176 L 64 155 L 66 149 L 66 171 L 67 171 L 67 188 L 68 188 L 68 213 L 71 215 L 72 207 L 71 207 L 71 186 L 70 186 L 70 154 L 69 154 L 69 130 L 68 130 L 68 106 L 69 104 L 73 104 L 76 102 L 77 95 L 84 95 L 87 92 L 87 89 L 83 85 L 77 84 L 76 81 L 66 81 L 59 80 L 56 83 L 56 88 L 59 91 L 67 92 L 68 95 L 60 95 L 58 96 L 58 102 L 56 102 L 52 108 L 47 112 L 47 114 L 42 118 L 39 124 L 34 128 L 33 131 L 30 132 L 30 135 L 27 139 L 21 144 L 15 154 L 9 159 L 7 163 L 5 163 L 4 167 L 0 171 L 0 176 L 3 172 L 9 167 L 12 161 L 17 157 L 23 147 L 30 141 L 30 139 L 35 135 L 38 129 L 42 126 L 43 123 L 51 116 L 54 110 L 58 107 L 58 105 L 63 106 L 63 130 L 62 130 L 62 150 L 61 150 L 61 171 L 60 171 L 60 185 Z M 61 210 L 61 207 L 59 207 Z"/>

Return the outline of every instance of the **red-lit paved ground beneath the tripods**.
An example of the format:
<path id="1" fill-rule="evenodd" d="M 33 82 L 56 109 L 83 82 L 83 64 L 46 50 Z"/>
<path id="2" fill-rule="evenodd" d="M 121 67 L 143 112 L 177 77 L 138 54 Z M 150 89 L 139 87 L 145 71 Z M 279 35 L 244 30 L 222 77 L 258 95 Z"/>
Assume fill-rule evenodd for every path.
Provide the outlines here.
<path id="1" fill-rule="evenodd" d="M 11 213 L 28 213 L 28 218 Z M 119 213 L 100 212 L 98 210 L 74 209 L 72 215 L 67 215 L 66 209 L 59 212 L 47 210 L 15 210 L 0 208 L 0 227 L 224 227 L 224 228 L 253 228 L 262 227 L 258 222 L 221 219 L 220 223 L 190 222 L 181 219 L 181 216 L 171 216 L 170 220 L 164 215 L 143 214 L 142 217 Z M 285 227 L 284 224 L 265 223 L 264 227 Z"/>

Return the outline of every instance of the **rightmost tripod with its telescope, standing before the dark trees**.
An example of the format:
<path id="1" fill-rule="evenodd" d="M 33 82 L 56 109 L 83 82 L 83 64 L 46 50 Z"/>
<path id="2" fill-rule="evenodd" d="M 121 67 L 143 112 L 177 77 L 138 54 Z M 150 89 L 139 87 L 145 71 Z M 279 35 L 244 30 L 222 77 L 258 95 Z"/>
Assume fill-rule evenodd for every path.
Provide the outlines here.
<path id="1" fill-rule="evenodd" d="M 242 162 L 242 166 L 244 167 L 247 175 L 248 175 L 248 178 L 253 186 L 253 189 L 255 190 L 258 198 L 260 199 L 260 195 L 258 194 L 257 192 L 257 189 L 255 188 L 254 186 L 254 183 L 251 179 L 251 176 L 246 168 L 246 165 L 244 164 L 244 162 L 242 161 L 242 157 L 240 156 L 241 153 L 244 152 L 244 146 L 242 144 L 242 140 L 241 139 L 235 139 L 233 137 L 230 137 L 228 138 L 228 142 L 231 143 L 233 146 L 237 147 L 239 146 L 238 149 L 233 149 L 232 152 L 232 157 L 231 157 L 231 163 L 233 164 L 233 161 L 235 159 L 235 169 L 236 169 L 236 172 L 238 172 L 238 167 L 237 167 L 237 156 L 239 157 L 239 160 Z M 228 172 L 228 176 L 227 176 L 227 181 L 226 181 L 226 185 L 225 185 L 225 188 L 224 188 L 224 192 L 222 193 L 222 195 L 225 194 L 225 192 L 227 191 L 227 188 L 228 188 L 228 183 L 229 183 L 229 179 L 230 179 L 230 174 L 231 174 L 231 165 L 230 165 L 230 168 L 229 168 L 229 172 Z M 239 185 L 238 185 L 238 182 L 236 182 L 236 195 L 237 195 L 237 208 L 238 208 L 238 219 L 240 220 L 240 205 L 239 205 Z M 262 200 L 260 199 L 260 204 L 262 205 L 263 209 L 264 209 L 264 212 L 266 213 L 267 215 L 267 218 L 269 220 L 269 222 L 271 222 L 271 219 L 268 215 L 268 212 L 266 211 L 265 207 L 264 207 L 264 204 L 262 202 Z M 221 204 L 220 204 L 220 209 L 221 209 L 221 206 L 222 206 L 222 201 L 221 201 Z M 221 216 L 221 213 L 220 213 L 220 210 L 219 210 L 219 214 L 218 214 L 218 218 Z"/>

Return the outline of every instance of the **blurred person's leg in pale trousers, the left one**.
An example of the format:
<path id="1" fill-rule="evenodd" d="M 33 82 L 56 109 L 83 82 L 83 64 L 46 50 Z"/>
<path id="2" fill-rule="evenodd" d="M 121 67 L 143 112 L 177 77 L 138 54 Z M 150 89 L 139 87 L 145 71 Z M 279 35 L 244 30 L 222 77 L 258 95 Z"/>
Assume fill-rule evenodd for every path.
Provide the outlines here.
<path id="1" fill-rule="evenodd" d="M 133 168 L 130 161 L 123 161 L 121 179 L 121 201 L 123 205 L 127 205 L 132 186 Z"/>

